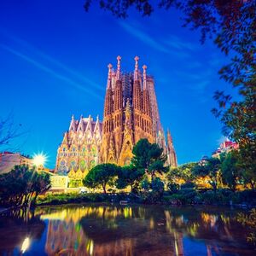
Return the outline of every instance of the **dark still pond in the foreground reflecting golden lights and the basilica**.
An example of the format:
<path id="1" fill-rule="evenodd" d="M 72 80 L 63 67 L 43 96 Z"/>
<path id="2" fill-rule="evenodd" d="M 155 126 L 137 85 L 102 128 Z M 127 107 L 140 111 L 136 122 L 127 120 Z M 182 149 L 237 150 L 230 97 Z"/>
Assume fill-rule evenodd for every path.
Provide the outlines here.
<path id="1" fill-rule="evenodd" d="M 256 255 L 241 209 L 67 205 L 0 216 L 1 255 Z"/>

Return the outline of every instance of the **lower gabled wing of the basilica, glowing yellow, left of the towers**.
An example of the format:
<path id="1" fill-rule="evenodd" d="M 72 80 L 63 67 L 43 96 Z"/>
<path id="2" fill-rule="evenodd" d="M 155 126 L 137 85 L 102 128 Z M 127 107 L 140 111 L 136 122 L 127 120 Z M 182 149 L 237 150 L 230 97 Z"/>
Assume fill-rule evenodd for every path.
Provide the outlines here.
<path id="1" fill-rule="evenodd" d="M 72 117 L 69 130 L 58 148 L 55 172 L 73 179 L 83 178 L 99 163 L 102 123 L 90 116 L 79 120 Z"/>

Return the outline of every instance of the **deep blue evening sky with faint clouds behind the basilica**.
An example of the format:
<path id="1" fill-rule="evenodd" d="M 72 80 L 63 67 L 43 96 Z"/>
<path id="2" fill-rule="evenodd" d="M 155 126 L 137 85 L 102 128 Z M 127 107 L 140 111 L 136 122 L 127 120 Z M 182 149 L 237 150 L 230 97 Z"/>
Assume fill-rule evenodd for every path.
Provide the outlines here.
<path id="1" fill-rule="evenodd" d="M 126 20 L 83 0 L 1 1 L 0 116 L 10 111 L 26 136 L 15 143 L 25 154 L 56 150 L 72 114 L 102 119 L 108 63 L 121 55 L 125 71 L 148 66 L 154 75 L 160 119 L 170 128 L 179 164 L 200 160 L 218 147 L 221 124 L 212 116 L 217 89 L 230 90 L 218 78 L 228 59 L 200 33 L 182 27 L 176 10 Z"/>

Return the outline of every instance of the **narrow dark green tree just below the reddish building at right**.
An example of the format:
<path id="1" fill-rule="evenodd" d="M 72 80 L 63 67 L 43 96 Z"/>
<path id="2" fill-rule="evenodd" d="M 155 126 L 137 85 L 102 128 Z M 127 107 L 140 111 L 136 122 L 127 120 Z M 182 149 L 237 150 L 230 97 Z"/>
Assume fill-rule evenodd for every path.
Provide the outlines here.
<path id="1" fill-rule="evenodd" d="M 225 155 L 221 163 L 221 173 L 224 183 L 228 184 L 230 189 L 236 190 L 238 178 L 241 177 L 241 168 L 238 163 L 238 152 L 230 151 Z"/>

